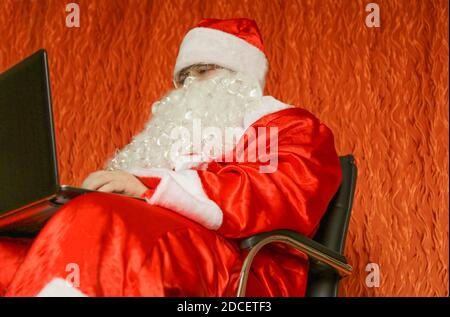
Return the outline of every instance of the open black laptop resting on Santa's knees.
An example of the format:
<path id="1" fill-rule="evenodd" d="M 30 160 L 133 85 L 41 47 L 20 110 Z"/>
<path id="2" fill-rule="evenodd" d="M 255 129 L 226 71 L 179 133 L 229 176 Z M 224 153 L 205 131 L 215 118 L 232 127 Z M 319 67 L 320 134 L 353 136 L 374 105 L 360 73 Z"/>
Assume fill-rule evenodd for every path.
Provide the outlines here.
<path id="1" fill-rule="evenodd" d="M 33 236 L 87 192 L 59 183 L 47 53 L 39 50 L 0 74 L 0 235 Z"/>

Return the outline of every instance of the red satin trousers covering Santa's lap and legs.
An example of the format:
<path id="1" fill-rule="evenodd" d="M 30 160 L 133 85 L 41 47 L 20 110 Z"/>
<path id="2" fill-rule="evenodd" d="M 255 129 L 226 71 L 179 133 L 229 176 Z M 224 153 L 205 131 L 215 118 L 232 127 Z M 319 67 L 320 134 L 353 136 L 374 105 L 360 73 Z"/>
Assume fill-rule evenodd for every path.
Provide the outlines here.
<path id="1" fill-rule="evenodd" d="M 0 295 L 35 296 L 53 278 L 88 296 L 235 296 L 237 240 L 129 197 L 89 193 L 67 203 L 35 239 L 0 237 Z M 267 248 L 248 296 L 302 296 L 307 260 Z"/>

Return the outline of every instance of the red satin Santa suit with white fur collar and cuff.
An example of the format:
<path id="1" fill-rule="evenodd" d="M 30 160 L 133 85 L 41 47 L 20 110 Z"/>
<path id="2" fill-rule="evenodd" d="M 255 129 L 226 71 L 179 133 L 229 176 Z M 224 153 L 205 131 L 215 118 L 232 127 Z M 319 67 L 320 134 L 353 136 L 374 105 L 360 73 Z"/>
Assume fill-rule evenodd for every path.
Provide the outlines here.
<path id="1" fill-rule="evenodd" d="M 269 133 L 265 142 L 249 137 L 270 128 L 277 129 L 276 153 Z M 341 182 L 333 134 L 308 111 L 265 96 L 246 132 L 231 161 L 136 171 L 149 188 L 146 201 L 85 194 L 62 206 L 35 239 L 0 238 L 0 292 L 235 296 L 245 256 L 240 239 L 275 229 L 312 236 Z M 254 142 L 266 146 L 256 161 L 248 159 Z M 270 162 L 272 170 L 261 172 Z M 303 296 L 307 270 L 303 255 L 267 246 L 253 262 L 247 295 Z"/>

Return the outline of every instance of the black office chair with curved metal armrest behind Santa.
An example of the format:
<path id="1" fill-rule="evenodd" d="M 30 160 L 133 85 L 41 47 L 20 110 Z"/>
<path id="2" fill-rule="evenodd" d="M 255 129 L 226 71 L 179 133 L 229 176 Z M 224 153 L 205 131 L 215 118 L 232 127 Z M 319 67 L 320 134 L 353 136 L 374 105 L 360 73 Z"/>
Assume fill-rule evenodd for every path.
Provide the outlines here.
<path id="1" fill-rule="evenodd" d="M 342 183 L 324 214 L 313 239 L 290 230 L 275 230 L 249 237 L 241 242 L 248 250 L 241 270 L 237 296 L 245 296 L 253 258 L 265 245 L 286 243 L 309 257 L 307 297 L 335 297 L 339 281 L 352 272 L 342 255 L 356 187 L 357 168 L 353 155 L 341 156 Z"/>

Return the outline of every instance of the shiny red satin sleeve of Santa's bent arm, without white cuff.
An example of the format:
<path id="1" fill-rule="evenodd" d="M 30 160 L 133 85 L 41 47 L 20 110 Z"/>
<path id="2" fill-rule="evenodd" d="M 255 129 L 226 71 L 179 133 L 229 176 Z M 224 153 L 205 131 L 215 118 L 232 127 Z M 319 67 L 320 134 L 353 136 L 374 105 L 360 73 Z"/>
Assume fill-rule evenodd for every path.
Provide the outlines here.
<path id="1" fill-rule="evenodd" d="M 266 118 L 253 127 L 278 128 L 274 173 L 261 173 L 261 164 L 251 162 L 214 163 L 198 171 L 204 191 L 223 212 L 218 232 L 242 238 L 290 229 L 311 236 L 341 183 L 333 134 L 300 108 Z M 268 151 L 268 140 L 266 146 Z"/>

